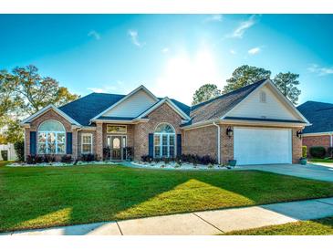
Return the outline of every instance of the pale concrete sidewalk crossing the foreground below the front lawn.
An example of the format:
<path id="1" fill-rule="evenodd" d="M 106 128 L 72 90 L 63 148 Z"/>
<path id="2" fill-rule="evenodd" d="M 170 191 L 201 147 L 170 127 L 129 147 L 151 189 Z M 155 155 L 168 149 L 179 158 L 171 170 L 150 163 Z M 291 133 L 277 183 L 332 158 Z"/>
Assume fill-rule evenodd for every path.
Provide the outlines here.
<path id="1" fill-rule="evenodd" d="M 333 216 L 333 197 L 126 221 L 16 231 L 2 235 L 212 235 Z"/>

